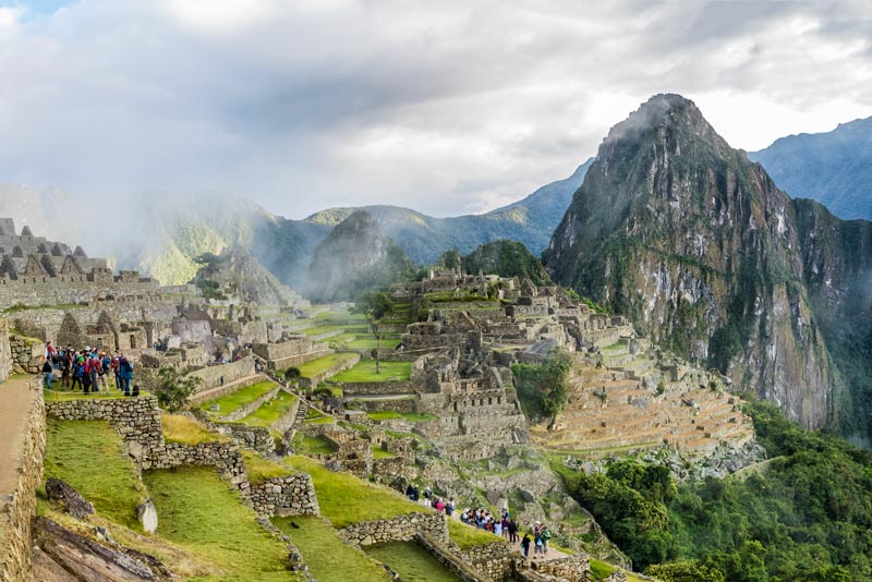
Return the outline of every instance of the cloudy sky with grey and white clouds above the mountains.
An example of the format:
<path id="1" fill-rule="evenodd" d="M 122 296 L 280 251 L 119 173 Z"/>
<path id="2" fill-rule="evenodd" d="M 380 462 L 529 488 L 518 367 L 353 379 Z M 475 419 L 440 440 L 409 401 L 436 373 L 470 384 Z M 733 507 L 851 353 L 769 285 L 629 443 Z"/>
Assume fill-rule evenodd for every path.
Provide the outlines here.
<path id="1" fill-rule="evenodd" d="M 735 147 L 872 116 L 872 2 L 0 0 L 0 181 L 302 218 L 501 206 L 655 93 Z"/>

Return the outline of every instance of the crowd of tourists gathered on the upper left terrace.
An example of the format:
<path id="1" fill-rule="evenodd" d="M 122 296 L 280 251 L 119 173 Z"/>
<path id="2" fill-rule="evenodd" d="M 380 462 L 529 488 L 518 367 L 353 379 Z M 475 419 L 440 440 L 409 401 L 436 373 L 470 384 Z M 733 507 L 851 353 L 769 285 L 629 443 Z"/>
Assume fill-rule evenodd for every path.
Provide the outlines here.
<path id="1" fill-rule="evenodd" d="M 109 378 L 114 388 L 124 392 L 124 396 L 136 396 L 138 387 L 131 390 L 133 379 L 133 362 L 116 350 L 109 354 L 97 348 L 86 347 L 84 350 L 74 350 L 71 344 L 66 349 L 57 349 L 51 342 L 46 343 L 45 362 L 43 363 L 46 388 L 51 389 L 51 381 L 60 374 L 61 389 L 83 393 L 109 393 Z"/>

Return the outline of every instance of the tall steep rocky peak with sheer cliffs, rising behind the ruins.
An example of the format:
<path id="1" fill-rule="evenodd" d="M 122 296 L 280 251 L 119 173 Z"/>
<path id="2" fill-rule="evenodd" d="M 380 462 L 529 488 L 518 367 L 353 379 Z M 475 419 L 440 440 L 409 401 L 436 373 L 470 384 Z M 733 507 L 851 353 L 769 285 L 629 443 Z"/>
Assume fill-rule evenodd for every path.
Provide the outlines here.
<path id="1" fill-rule="evenodd" d="M 867 391 L 846 390 L 831 331 L 858 305 L 868 230 L 791 201 L 693 102 L 658 95 L 611 129 L 545 263 L 806 426 L 850 432 L 865 429 Z"/>

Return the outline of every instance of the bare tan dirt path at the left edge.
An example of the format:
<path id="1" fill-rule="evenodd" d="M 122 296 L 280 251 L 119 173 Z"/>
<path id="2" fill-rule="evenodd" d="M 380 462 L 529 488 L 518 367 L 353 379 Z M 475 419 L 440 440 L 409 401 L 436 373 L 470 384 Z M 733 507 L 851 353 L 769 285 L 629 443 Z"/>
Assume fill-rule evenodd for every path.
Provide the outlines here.
<path id="1" fill-rule="evenodd" d="M 12 493 L 19 480 L 19 457 L 25 428 L 39 389 L 32 377 L 16 376 L 0 384 L 0 498 Z"/>

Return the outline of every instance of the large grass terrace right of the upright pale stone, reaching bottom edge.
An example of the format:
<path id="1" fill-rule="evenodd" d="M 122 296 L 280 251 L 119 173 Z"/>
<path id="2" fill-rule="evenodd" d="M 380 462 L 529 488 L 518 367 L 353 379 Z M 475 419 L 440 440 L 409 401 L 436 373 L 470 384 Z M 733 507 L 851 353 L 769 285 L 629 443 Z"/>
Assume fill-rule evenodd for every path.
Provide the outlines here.
<path id="1" fill-rule="evenodd" d="M 255 521 L 215 469 L 182 466 L 143 474 L 160 516 L 158 535 L 211 565 L 199 580 L 299 580 L 288 550 Z"/>

